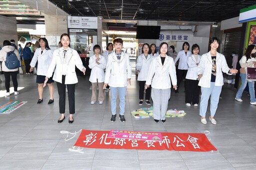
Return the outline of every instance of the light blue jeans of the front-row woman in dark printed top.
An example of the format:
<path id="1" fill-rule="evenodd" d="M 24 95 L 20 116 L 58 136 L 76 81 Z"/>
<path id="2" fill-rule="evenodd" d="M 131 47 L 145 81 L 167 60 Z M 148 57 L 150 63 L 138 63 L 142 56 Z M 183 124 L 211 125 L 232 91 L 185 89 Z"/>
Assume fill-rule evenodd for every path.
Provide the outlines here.
<path id="1" fill-rule="evenodd" d="M 201 87 L 201 100 L 199 114 L 202 117 L 205 117 L 208 100 L 210 97 L 210 116 L 214 117 L 215 112 L 218 107 L 219 95 L 221 92 L 222 86 L 215 86 L 215 82 L 210 82 L 210 87 Z"/>

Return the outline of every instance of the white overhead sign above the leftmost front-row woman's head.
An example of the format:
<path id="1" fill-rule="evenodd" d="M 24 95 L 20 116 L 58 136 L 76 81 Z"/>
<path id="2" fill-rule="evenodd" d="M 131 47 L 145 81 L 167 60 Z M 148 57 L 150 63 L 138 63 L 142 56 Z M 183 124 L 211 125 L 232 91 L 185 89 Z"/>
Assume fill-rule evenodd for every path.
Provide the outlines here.
<path id="1" fill-rule="evenodd" d="M 97 17 L 67 16 L 67 28 L 97 29 Z"/>

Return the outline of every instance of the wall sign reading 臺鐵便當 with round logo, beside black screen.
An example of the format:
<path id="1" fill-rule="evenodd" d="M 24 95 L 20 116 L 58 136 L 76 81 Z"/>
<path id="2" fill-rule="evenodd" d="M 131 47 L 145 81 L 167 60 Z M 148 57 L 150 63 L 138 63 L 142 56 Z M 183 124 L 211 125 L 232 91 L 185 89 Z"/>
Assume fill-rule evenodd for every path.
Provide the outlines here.
<path id="1" fill-rule="evenodd" d="M 160 41 L 192 41 L 192 30 L 161 30 Z"/>

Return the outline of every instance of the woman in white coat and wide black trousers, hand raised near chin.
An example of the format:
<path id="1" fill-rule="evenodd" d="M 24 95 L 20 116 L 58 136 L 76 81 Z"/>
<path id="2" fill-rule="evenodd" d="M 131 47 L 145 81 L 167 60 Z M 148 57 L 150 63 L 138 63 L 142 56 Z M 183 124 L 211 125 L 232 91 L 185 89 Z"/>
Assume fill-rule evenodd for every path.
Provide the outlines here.
<path id="1" fill-rule="evenodd" d="M 197 67 L 201 59 L 199 55 L 199 45 L 192 45 L 192 55 L 187 57 L 188 70 L 186 73 L 186 91 L 185 103 L 190 106 L 191 103 L 197 106 L 199 103 L 200 86 L 198 86 Z"/>

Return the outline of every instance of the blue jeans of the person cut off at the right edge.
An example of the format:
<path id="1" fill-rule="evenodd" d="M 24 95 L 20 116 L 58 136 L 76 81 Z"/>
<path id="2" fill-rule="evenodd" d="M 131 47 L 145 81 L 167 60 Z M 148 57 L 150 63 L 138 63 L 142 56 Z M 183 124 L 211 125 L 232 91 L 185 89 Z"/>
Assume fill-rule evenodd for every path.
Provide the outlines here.
<path id="1" fill-rule="evenodd" d="M 244 88 L 246 87 L 246 84 L 248 82 L 249 86 L 249 94 L 250 94 L 250 102 L 255 102 L 255 90 L 254 90 L 254 81 L 248 81 L 246 80 L 246 74 L 240 73 L 241 77 L 241 86 L 239 87 L 238 91 L 235 94 L 235 98 L 241 98 L 242 97 L 242 92 Z"/>

